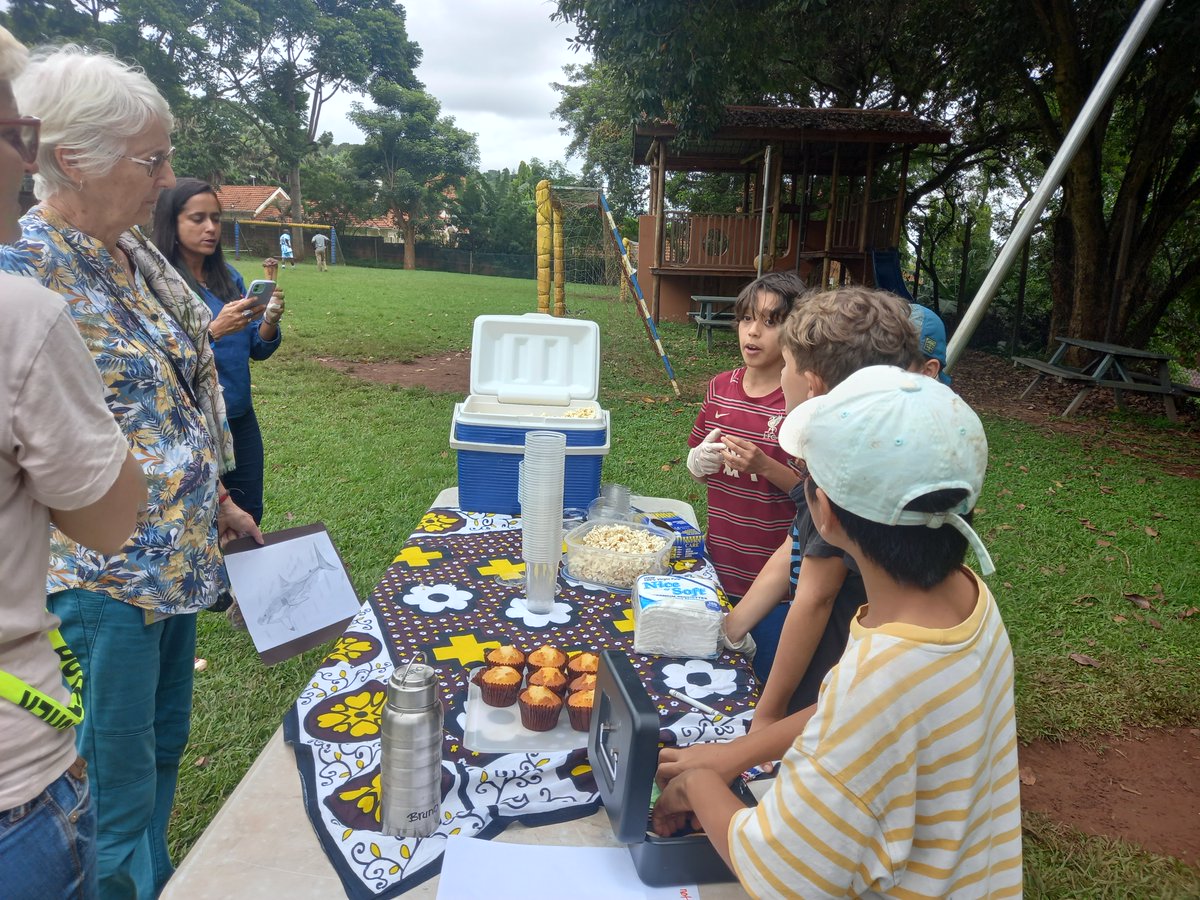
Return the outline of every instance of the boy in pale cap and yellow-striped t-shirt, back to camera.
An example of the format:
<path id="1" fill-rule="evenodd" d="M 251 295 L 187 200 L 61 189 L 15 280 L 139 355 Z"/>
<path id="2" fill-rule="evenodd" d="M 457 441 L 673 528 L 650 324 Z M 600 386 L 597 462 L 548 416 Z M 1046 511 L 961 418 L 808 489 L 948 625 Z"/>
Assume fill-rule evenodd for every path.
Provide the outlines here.
<path id="1" fill-rule="evenodd" d="M 696 818 L 755 896 L 1019 896 L 1013 654 L 962 560 L 988 464 L 978 416 L 892 366 L 860 370 L 791 413 L 822 536 L 858 562 L 868 604 L 814 716 L 755 809 L 722 775 L 672 779 L 654 810 Z"/>

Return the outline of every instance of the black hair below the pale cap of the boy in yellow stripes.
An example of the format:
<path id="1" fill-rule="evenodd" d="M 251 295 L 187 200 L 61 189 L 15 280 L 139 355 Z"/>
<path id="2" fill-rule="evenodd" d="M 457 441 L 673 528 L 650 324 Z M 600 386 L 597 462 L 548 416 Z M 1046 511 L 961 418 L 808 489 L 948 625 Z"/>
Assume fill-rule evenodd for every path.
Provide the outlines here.
<path id="1" fill-rule="evenodd" d="M 810 478 L 805 485 L 809 503 L 820 485 Z M 967 496 L 961 487 L 934 491 L 911 500 L 905 509 L 916 512 L 946 512 L 956 508 Z M 967 539 L 949 524 L 940 528 L 917 526 L 889 526 L 848 512 L 829 500 L 833 514 L 846 532 L 846 536 L 858 545 L 863 556 L 878 565 L 901 584 L 930 590 L 954 574 L 967 554 Z M 971 522 L 974 510 L 964 512 Z"/>

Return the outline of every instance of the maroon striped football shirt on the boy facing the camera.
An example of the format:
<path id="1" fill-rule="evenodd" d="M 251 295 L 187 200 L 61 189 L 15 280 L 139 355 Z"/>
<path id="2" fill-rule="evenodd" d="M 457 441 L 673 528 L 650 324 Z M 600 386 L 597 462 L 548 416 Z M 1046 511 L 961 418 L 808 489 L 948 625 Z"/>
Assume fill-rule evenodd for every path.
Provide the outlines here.
<path id="1" fill-rule="evenodd" d="M 708 383 L 708 395 L 688 436 L 688 446 L 700 444 L 713 428 L 752 440 L 772 458 L 792 464 L 779 445 L 779 426 L 787 414 L 780 388 L 750 397 L 742 386 L 745 367 L 721 372 Z M 786 540 L 796 504 L 764 476 L 737 478 L 724 469 L 707 479 L 708 534 L 704 546 L 726 593 L 740 598 L 770 554 Z"/>

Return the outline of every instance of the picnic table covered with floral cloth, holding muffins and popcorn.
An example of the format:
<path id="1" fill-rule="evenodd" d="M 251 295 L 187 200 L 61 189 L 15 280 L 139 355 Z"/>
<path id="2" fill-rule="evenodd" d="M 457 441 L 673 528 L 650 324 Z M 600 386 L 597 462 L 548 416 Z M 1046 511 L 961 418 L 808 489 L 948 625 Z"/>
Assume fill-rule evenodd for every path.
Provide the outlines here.
<path id="1" fill-rule="evenodd" d="M 688 504 L 632 499 L 638 509 L 695 521 Z M 529 613 L 523 587 L 508 582 L 522 566 L 520 518 L 467 511 L 457 502 L 456 490 L 444 491 L 422 516 L 306 683 L 282 734 L 271 739 L 180 865 L 164 900 L 259 895 L 256 890 L 313 900 L 343 892 L 352 900 L 432 898 L 450 834 L 620 846 L 600 809 L 586 750 L 482 752 L 466 746 L 468 673 L 503 642 L 624 649 L 659 708 L 666 744 L 745 733 L 757 688 L 744 656 L 634 654 L 629 594 L 574 581 L 565 571 L 553 612 Z M 707 560 L 688 564 L 712 574 Z M 379 706 L 394 666 L 414 650 L 425 650 L 442 685 L 443 823 L 432 838 L 401 839 L 379 827 Z M 694 694 L 726 718 L 714 722 L 679 703 L 667 692 L 671 688 Z M 714 900 L 744 896 L 736 884 L 704 886 L 704 896 L 709 894 Z"/>

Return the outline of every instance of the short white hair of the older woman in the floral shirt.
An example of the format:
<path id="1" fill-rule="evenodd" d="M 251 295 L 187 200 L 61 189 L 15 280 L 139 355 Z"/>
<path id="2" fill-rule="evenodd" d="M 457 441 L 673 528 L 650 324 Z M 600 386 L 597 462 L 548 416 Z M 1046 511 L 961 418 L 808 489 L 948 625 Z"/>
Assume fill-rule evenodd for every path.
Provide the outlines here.
<path id="1" fill-rule="evenodd" d="M 175 124 L 145 72 L 76 44 L 35 50 L 13 92 L 25 115 L 42 120 L 34 176 L 40 200 L 78 190 L 54 158 L 59 148 L 74 154 L 85 175 L 103 176 L 128 151 L 131 138 L 155 121 L 168 132 Z"/>

